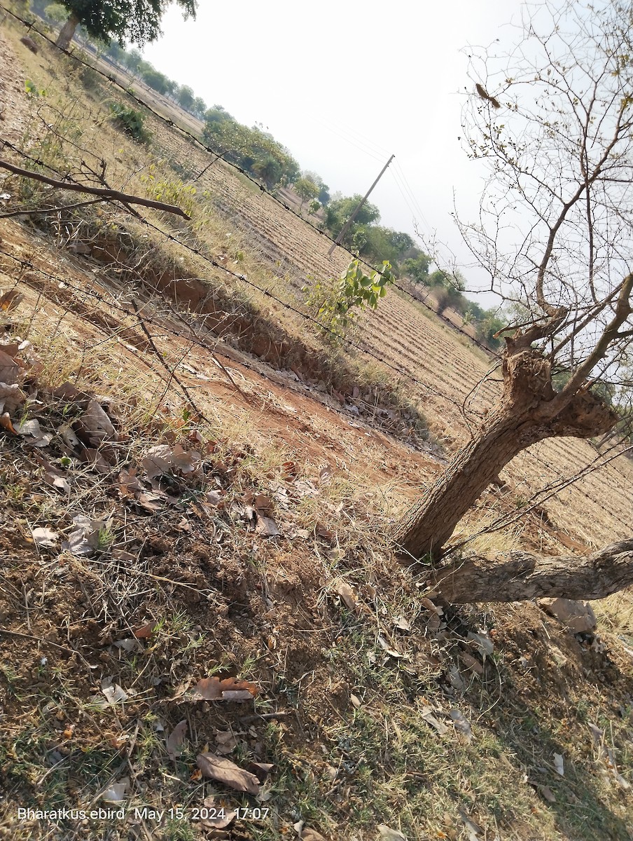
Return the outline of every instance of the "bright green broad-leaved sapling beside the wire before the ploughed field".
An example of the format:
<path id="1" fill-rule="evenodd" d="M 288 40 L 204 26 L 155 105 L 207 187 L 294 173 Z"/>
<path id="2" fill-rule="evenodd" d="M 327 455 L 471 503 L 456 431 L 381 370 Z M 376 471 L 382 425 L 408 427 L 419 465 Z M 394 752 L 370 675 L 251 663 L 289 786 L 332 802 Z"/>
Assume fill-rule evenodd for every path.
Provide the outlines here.
<path id="1" fill-rule="evenodd" d="M 387 294 L 387 288 L 395 276 L 388 260 L 382 262 L 380 271 L 366 274 L 361 269 L 360 261 L 352 260 L 340 278 L 324 282 L 318 281 L 314 287 L 303 287 L 309 292 L 306 303 L 316 309 L 320 324 L 330 332 L 342 338 L 347 328 L 359 312 L 370 307 L 376 309 L 378 301 Z"/>

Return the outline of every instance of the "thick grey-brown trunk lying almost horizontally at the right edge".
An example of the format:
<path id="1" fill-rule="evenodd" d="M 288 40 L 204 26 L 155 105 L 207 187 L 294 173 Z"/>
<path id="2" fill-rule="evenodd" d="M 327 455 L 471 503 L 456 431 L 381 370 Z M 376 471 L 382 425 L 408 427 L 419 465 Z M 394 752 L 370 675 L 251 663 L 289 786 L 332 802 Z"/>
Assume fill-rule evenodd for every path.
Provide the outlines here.
<path id="1" fill-rule="evenodd" d="M 509 552 L 497 558 L 462 558 L 434 569 L 430 586 L 456 605 L 526 599 L 604 599 L 633 584 L 633 539 L 593 555 L 540 558 Z"/>

